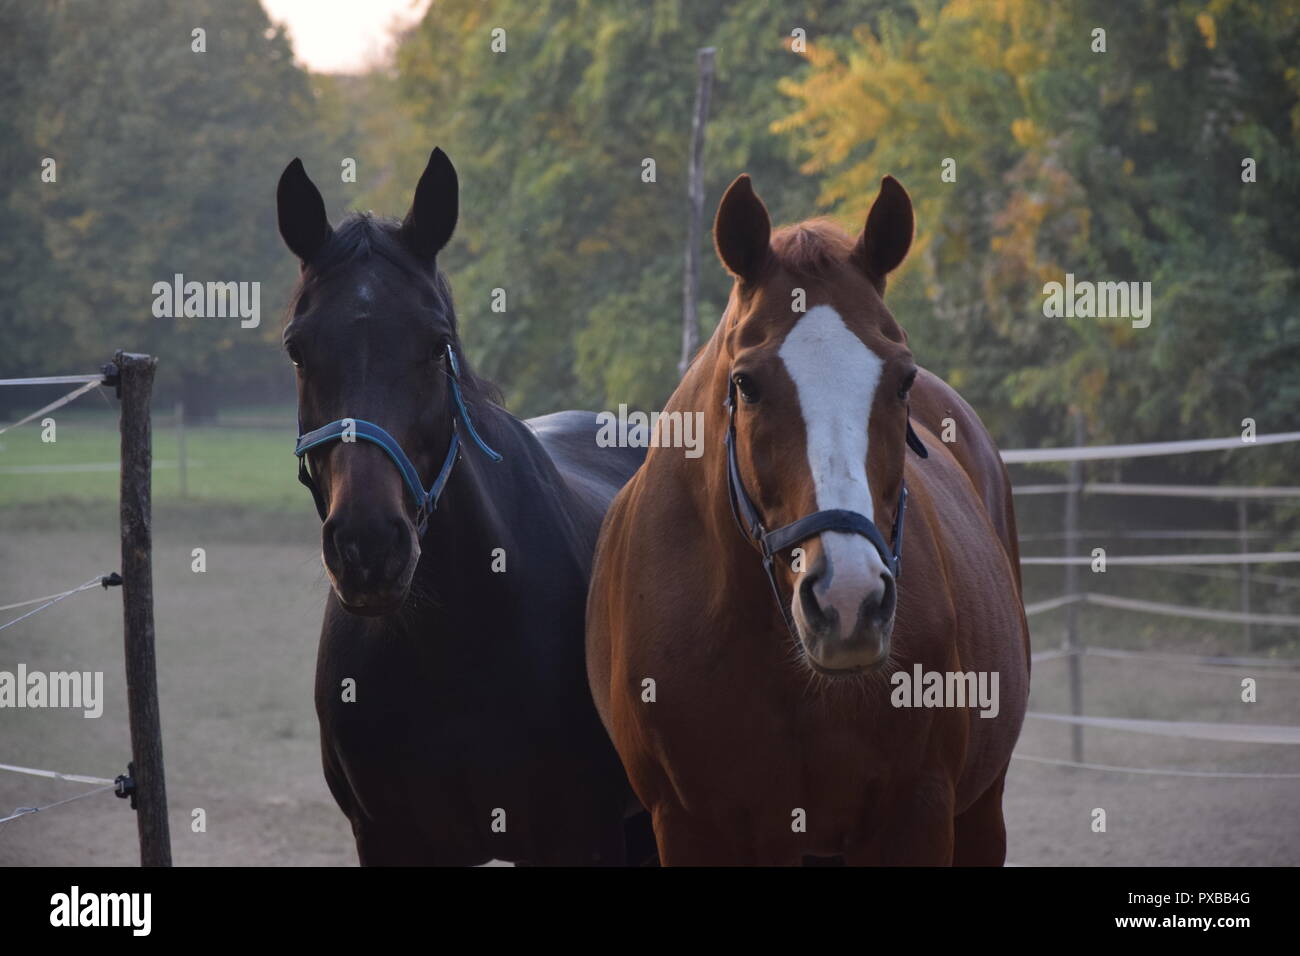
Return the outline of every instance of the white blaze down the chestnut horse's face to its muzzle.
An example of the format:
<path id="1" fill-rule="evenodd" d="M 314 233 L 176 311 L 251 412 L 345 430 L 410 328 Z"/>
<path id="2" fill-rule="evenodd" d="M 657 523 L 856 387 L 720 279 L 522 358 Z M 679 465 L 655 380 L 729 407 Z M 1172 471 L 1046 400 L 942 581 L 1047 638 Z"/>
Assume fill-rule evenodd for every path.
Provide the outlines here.
<path id="1" fill-rule="evenodd" d="M 867 485 L 867 421 L 884 362 L 829 306 L 814 306 L 794 324 L 780 356 L 803 415 L 818 510 L 844 509 L 875 520 Z M 887 568 L 861 535 L 826 532 L 822 546 L 831 580 L 819 598 L 838 611 L 841 635 L 848 636 L 862 601 L 883 587 Z M 793 604 L 797 607 L 798 600 Z"/>

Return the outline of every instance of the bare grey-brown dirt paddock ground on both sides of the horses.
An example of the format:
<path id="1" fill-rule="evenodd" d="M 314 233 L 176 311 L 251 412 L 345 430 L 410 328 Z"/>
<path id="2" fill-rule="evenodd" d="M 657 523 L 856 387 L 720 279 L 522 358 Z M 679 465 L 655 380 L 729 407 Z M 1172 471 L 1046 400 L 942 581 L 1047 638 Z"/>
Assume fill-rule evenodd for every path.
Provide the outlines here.
<path id="1" fill-rule="evenodd" d="M 34 516 L 39 515 L 39 516 Z M 118 566 L 113 509 L 0 511 L 0 601 L 49 593 Z M 169 506 L 155 520 L 159 685 L 173 856 L 178 865 L 355 865 L 351 832 L 320 770 L 312 682 L 326 584 L 318 528 L 292 516 Z M 207 550 L 207 572 L 191 550 Z M 6 615 L 8 619 L 9 615 Z M 1053 646 L 1057 630 L 1036 635 Z M 1175 649 L 1175 648 L 1169 648 Z M 0 762 L 116 777 L 129 758 L 117 592 L 78 594 L 0 632 L 0 661 L 103 670 L 105 709 L 8 710 Z M 1258 702 L 1239 702 L 1242 676 Z M 1087 713 L 1300 724 L 1300 674 L 1088 659 Z M 1035 666 L 1031 709 L 1067 710 L 1066 663 Z M 1067 758 L 1065 726 L 1028 721 L 1019 753 Z M 1294 747 L 1087 732 L 1089 762 L 1300 773 Z M 0 816 L 90 790 L 0 773 Z M 1300 780 L 1144 777 L 1015 761 L 1006 790 L 1009 862 L 1062 865 L 1300 864 Z M 207 832 L 191 831 L 191 813 Z M 1106 832 L 1091 829 L 1106 812 Z M 134 865 L 135 821 L 98 795 L 0 825 L 0 865 Z"/>

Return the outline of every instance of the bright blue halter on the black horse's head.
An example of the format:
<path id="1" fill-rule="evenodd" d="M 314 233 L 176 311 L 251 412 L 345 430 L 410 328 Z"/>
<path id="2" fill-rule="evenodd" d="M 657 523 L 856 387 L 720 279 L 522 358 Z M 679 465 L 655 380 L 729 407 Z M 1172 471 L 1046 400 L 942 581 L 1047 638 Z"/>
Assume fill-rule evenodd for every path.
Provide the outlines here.
<path id="1" fill-rule="evenodd" d="M 298 445 L 294 447 L 294 454 L 298 455 L 298 480 L 311 489 L 312 497 L 316 499 L 316 511 L 320 512 L 322 522 L 325 520 L 325 515 L 329 512 L 329 507 L 326 506 L 325 496 L 321 494 L 320 488 L 316 485 L 316 480 L 307 468 L 307 453 L 318 445 L 328 445 L 332 441 L 352 442 L 358 438 L 364 438 L 365 441 L 373 442 L 384 449 L 387 457 L 393 459 L 393 464 L 398 467 L 398 471 L 402 473 L 402 480 L 406 483 L 406 486 L 411 489 L 411 494 L 415 497 L 416 528 L 421 536 L 424 536 L 424 531 L 429 525 L 429 515 L 432 515 L 434 509 L 438 507 L 438 498 L 442 497 L 442 489 L 447 486 L 447 480 L 451 477 L 451 470 L 460 458 L 462 428 L 465 429 L 469 438 L 485 455 L 488 455 L 488 458 L 494 462 L 502 460 L 502 457 L 493 451 L 488 446 L 488 442 L 482 440 L 478 431 L 474 428 L 473 420 L 469 418 L 469 410 L 465 407 L 464 395 L 460 394 L 460 363 L 456 360 L 456 352 L 450 345 L 447 346 L 447 365 L 451 368 L 451 395 L 455 401 L 455 407 L 451 410 L 451 442 L 447 445 L 447 457 L 442 460 L 442 468 L 438 470 L 438 477 L 433 480 L 433 485 L 428 490 L 425 490 L 420 481 L 420 472 L 416 470 L 410 457 L 407 457 L 407 453 L 402 450 L 402 445 L 398 444 L 398 440 L 384 431 L 380 425 L 376 425 L 373 421 L 363 421 L 361 419 L 339 419 L 338 421 L 330 421 L 328 425 L 322 425 L 313 432 L 298 436 Z M 299 420 L 298 428 L 302 431 L 302 420 Z"/>

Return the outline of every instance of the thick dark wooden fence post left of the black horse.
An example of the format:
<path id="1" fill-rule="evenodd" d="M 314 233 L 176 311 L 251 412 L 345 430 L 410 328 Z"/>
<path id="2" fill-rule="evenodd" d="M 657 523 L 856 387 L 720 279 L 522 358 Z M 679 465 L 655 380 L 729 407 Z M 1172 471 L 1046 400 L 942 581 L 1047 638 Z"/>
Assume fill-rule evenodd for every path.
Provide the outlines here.
<path id="1" fill-rule="evenodd" d="M 140 834 L 140 865 L 170 866 L 172 838 L 166 821 L 162 730 L 153 652 L 153 449 L 150 399 L 157 359 L 118 351 L 113 362 L 122 398 L 122 617 L 135 819 Z"/>

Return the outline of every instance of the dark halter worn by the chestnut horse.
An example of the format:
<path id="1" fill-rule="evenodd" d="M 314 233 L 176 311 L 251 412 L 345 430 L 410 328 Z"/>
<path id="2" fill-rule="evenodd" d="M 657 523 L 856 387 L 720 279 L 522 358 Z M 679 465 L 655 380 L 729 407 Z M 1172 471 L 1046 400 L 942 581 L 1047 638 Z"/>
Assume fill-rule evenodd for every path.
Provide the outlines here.
<path id="1" fill-rule="evenodd" d="M 902 519 L 904 514 L 907 511 L 907 483 L 901 481 L 898 485 L 898 507 L 894 511 L 894 524 L 893 524 L 893 548 L 890 549 L 885 544 L 884 535 L 880 533 L 880 528 L 875 525 L 870 518 L 857 511 L 845 511 L 844 509 L 832 509 L 829 511 L 814 511 L 811 515 L 800 518 L 796 522 L 790 522 L 775 531 L 768 531 L 762 519 L 758 516 L 758 509 L 754 507 L 753 499 L 745 490 L 745 483 L 740 477 L 740 466 L 736 462 L 736 381 L 729 380 L 727 384 L 727 401 L 723 402 L 727 408 L 727 501 L 731 505 L 732 516 L 736 519 L 736 527 L 740 528 L 741 533 L 748 538 L 758 544 L 759 550 L 763 554 L 763 571 L 767 572 L 767 583 L 772 585 L 772 596 L 776 598 L 776 606 L 781 611 L 781 617 L 785 619 L 785 627 L 789 628 L 790 635 L 797 637 L 794 630 L 794 622 L 790 618 L 790 611 L 781 600 L 780 588 L 776 587 L 776 571 L 774 568 L 774 562 L 779 551 L 784 551 L 786 548 L 806 541 L 810 537 L 820 535 L 826 531 L 840 531 L 849 535 L 861 535 L 872 544 L 872 546 L 879 551 L 881 559 L 889 567 L 889 572 L 893 575 L 894 580 L 902 576 Z M 926 450 L 924 444 L 920 437 L 913 431 L 911 420 L 907 420 L 907 447 L 915 451 L 920 458 L 928 458 L 930 453 Z"/>

